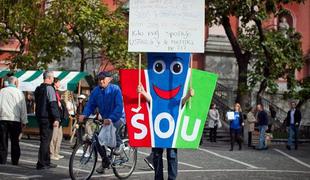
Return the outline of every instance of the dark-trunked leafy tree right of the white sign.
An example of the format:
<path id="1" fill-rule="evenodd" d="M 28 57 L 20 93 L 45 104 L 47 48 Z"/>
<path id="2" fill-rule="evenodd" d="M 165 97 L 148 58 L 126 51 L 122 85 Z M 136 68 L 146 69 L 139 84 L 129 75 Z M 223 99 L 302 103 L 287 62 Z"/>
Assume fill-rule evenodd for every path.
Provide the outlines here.
<path id="1" fill-rule="evenodd" d="M 300 36 L 290 30 L 293 38 L 284 38 L 275 30 L 264 29 L 263 22 L 270 17 L 277 17 L 284 12 L 281 4 L 301 3 L 302 0 L 206 0 L 207 21 L 210 25 L 223 25 L 232 45 L 239 72 L 236 101 L 244 107 L 249 98 L 250 87 L 258 83 L 260 95 L 270 88 L 276 90 L 275 81 L 279 77 L 291 75 L 292 71 L 301 67 Z M 233 33 L 230 18 L 240 21 L 237 34 Z M 253 26 L 249 27 L 249 23 Z M 293 49 L 290 49 L 293 47 Z M 289 51 L 285 51 L 289 49 Z M 253 60 L 254 59 L 254 60 Z M 252 64 L 252 72 L 249 65 Z M 287 64 L 287 65 L 285 65 Z M 283 70 L 274 71 L 281 67 Z M 294 79 L 294 78 L 293 78 Z M 250 82 L 250 84 L 248 84 Z M 293 82 L 293 80 L 292 80 Z M 250 87 L 249 87 L 250 85 Z"/>

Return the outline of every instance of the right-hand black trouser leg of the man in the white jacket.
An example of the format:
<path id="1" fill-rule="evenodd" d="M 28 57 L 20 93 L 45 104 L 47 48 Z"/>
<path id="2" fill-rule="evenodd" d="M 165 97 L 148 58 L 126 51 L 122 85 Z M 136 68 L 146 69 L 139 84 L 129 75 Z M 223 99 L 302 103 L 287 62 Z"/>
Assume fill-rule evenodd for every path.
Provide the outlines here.
<path id="1" fill-rule="evenodd" d="M 11 139 L 11 161 L 13 165 L 18 165 L 20 158 L 19 134 L 21 133 L 21 123 L 10 122 L 8 130 Z"/>

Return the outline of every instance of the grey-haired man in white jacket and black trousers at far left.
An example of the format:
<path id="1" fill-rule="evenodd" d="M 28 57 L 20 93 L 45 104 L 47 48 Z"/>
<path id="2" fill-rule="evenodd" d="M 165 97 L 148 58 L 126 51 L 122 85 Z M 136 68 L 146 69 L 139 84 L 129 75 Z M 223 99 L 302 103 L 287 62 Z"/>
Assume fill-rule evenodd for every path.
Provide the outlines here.
<path id="1" fill-rule="evenodd" d="M 19 135 L 28 123 L 24 94 L 17 89 L 18 79 L 9 77 L 9 85 L 0 91 L 0 164 L 6 164 L 8 138 L 11 139 L 11 161 L 18 165 Z"/>

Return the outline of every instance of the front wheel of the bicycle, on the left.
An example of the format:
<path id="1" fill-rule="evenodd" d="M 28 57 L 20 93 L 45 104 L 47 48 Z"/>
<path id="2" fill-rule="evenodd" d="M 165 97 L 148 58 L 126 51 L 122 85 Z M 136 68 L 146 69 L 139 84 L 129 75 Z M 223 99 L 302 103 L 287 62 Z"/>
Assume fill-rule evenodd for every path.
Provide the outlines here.
<path id="1" fill-rule="evenodd" d="M 90 142 L 78 144 L 73 150 L 70 162 L 69 173 L 73 180 L 90 179 L 97 163 L 97 152 Z"/>

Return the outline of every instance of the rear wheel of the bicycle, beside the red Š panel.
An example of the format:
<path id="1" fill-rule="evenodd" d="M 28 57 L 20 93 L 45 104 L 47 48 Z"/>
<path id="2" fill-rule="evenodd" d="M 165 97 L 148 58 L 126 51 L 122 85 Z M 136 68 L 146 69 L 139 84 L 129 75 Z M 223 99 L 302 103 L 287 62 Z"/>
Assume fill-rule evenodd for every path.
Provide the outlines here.
<path id="1" fill-rule="evenodd" d="M 128 178 L 135 170 L 137 164 L 137 149 L 129 145 L 128 139 L 123 139 L 124 148 L 119 156 L 113 155 L 113 173 L 119 179 Z"/>

